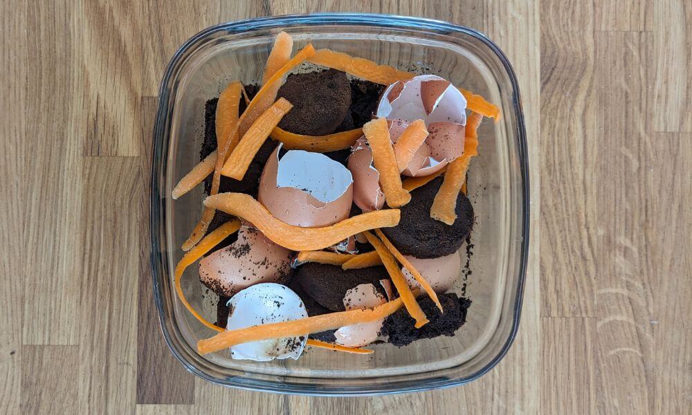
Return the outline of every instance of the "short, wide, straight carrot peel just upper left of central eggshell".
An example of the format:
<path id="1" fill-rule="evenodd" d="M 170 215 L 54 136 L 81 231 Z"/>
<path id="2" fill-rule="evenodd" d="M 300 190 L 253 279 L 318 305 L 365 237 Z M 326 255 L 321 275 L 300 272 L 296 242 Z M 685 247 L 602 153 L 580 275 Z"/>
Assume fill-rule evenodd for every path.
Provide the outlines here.
<path id="1" fill-rule="evenodd" d="M 245 133 L 233 150 L 233 153 L 226 160 L 224 168 L 221 169 L 221 174 L 233 177 L 236 180 L 243 180 L 245 172 L 247 172 L 250 163 L 255 158 L 255 154 L 257 154 L 257 151 L 260 151 L 260 147 L 264 144 L 269 133 L 271 133 L 286 113 L 291 111 L 291 108 L 293 108 L 293 104 L 284 98 L 279 98 L 271 104 Z"/>

